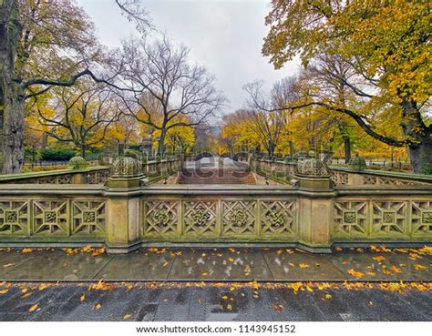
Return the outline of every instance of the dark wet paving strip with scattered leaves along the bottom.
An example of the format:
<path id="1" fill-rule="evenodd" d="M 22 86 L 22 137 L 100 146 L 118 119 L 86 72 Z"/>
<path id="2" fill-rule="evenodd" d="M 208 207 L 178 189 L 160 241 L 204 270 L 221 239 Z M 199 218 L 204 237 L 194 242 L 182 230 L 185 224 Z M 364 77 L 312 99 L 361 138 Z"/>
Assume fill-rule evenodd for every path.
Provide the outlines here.
<path id="1" fill-rule="evenodd" d="M 0 284 L 0 321 L 432 321 L 430 286 L 116 285 Z"/>

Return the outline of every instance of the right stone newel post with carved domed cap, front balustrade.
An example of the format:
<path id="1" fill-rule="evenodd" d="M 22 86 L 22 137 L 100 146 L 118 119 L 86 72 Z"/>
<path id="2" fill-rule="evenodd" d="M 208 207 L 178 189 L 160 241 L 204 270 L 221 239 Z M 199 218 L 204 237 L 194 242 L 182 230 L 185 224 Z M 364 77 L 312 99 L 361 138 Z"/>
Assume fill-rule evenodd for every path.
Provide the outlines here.
<path id="1" fill-rule="evenodd" d="M 329 168 L 311 151 L 308 159 L 299 162 L 293 182 L 304 195 L 299 202 L 299 243 L 306 250 L 331 252 L 331 198 L 334 189 Z"/>

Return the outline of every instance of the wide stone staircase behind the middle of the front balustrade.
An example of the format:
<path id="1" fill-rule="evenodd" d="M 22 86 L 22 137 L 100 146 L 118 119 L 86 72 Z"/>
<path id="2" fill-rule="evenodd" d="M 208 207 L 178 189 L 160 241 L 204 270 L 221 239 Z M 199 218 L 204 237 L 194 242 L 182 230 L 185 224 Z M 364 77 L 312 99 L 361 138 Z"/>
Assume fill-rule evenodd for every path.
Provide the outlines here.
<path id="1" fill-rule="evenodd" d="M 201 168 L 183 169 L 179 184 L 256 184 L 250 172 L 242 168 Z"/>

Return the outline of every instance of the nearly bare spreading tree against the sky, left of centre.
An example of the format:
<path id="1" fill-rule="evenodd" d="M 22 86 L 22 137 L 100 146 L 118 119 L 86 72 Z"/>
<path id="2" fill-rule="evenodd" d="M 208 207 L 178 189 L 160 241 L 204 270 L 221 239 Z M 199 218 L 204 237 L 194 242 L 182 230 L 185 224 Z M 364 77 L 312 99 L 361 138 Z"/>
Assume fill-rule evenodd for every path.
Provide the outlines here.
<path id="1" fill-rule="evenodd" d="M 132 38 L 119 57 L 118 97 L 126 113 L 159 131 L 160 156 L 172 128 L 204 124 L 225 101 L 214 77 L 204 67 L 190 65 L 189 52 L 168 36 L 152 44 Z"/>

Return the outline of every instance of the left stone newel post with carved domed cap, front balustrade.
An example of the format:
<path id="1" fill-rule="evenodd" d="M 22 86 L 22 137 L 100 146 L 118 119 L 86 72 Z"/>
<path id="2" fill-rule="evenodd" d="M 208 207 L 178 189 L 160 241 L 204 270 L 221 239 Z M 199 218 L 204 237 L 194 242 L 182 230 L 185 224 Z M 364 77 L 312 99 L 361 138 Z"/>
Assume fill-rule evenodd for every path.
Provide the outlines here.
<path id="1" fill-rule="evenodd" d="M 147 183 L 135 158 L 119 157 L 106 183 L 108 253 L 127 253 L 139 248 L 142 219 L 140 189 Z"/>

